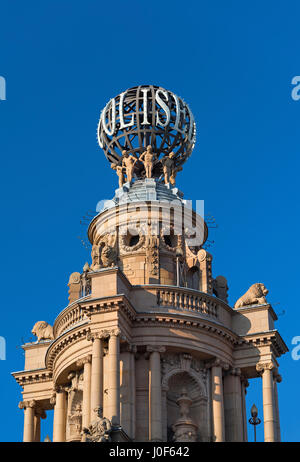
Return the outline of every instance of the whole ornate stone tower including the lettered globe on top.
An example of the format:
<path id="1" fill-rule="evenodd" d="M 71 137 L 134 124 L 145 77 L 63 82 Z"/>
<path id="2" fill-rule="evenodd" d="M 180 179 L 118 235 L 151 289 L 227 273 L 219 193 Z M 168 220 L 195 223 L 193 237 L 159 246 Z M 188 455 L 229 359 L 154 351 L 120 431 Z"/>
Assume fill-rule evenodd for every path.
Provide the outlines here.
<path id="1" fill-rule="evenodd" d="M 265 441 L 280 441 L 278 358 L 287 351 L 257 283 L 232 308 L 207 226 L 175 186 L 195 122 L 173 93 L 140 86 L 109 101 L 98 139 L 119 188 L 88 228 L 91 261 L 69 304 L 23 345 L 24 441 L 247 441 L 248 381 L 262 378 Z"/>

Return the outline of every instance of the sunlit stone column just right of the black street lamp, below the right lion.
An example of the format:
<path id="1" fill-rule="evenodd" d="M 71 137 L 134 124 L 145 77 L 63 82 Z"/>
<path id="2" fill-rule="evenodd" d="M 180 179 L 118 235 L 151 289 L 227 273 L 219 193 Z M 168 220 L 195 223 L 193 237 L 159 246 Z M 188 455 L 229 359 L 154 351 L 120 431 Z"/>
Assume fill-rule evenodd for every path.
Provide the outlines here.
<path id="1" fill-rule="evenodd" d="M 273 392 L 273 363 L 257 364 L 256 370 L 262 375 L 263 408 L 264 408 L 264 433 L 265 442 L 275 441 L 275 402 Z"/>

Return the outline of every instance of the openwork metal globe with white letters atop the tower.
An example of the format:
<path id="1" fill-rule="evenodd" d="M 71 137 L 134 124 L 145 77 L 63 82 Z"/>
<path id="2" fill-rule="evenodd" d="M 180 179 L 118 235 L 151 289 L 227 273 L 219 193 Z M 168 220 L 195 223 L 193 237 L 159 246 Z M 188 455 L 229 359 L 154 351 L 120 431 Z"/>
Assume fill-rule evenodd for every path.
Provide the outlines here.
<path id="1" fill-rule="evenodd" d="M 139 158 L 151 145 L 158 159 L 174 153 L 179 170 L 191 155 L 195 139 L 196 124 L 188 105 L 171 91 L 154 85 L 133 87 L 112 98 L 98 124 L 99 145 L 115 165 L 120 165 L 124 151 Z M 135 173 L 142 176 L 138 169 Z M 153 176 L 161 173 L 162 164 L 157 162 Z"/>

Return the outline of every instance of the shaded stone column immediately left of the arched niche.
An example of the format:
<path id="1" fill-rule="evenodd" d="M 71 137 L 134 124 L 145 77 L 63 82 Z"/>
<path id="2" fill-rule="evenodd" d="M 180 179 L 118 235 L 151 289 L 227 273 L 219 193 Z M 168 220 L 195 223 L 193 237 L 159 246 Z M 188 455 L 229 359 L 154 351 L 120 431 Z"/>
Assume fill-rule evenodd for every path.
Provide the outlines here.
<path id="1" fill-rule="evenodd" d="M 149 440 L 162 441 L 162 390 L 160 354 L 165 347 L 148 346 L 149 357 Z"/>

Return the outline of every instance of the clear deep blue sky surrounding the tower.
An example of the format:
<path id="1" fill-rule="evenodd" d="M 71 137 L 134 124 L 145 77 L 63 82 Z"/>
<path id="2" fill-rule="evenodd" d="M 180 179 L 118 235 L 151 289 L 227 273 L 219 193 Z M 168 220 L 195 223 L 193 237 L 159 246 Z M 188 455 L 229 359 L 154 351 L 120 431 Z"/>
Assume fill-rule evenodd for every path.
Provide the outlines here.
<path id="1" fill-rule="evenodd" d="M 231 303 L 264 282 L 291 349 L 300 335 L 300 101 L 291 98 L 299 2 L 15 0 L 0 8 L 0 439 L 22 438 L 21 389 L 10 376 L 23 369 L 18 346 L 37 320 L 52 323 L 66 306 L 69 274 L 90 259 L 80 219 L 117 187 L 96 142 L 100 110 L 135 85 L 161 85 L 190 105 L 197 143 L 177 184 L 186 198 L 204 199 L 219 225 L 210 235 L 214 275 L 227 277 Z M 300 441 L 300 361 L 287 353 L 279 363 L 282 438 Z M 247 401 L 262 414 L 259 380 Z"/>

